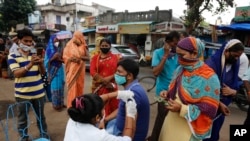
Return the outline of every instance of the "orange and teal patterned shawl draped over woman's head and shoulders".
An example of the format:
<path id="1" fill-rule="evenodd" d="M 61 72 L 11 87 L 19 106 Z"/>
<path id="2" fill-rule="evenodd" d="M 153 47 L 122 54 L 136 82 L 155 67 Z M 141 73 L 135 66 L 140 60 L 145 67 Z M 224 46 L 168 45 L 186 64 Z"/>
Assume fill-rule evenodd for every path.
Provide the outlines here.
<path id="1" fill-rule="evenodd" d="M 198 39 L 189 37 L 192 50 L 202 56 L 204 45 Z M 181 41 L 180 41 L 181 42 Z M 186 43 L 185 43 L 186 44 Z M 187 45 L 187 44 L 186 44 Z M 169 86 L 168 99 L 175 99 L 176 94 L 188 111 L 184 116 L 189 124 L 192 135 L 204 139 L 211 134 L 213 119 L 219 106 L 220 82 L 215 72 L 197 58 L 197 63 L 180 65 Z"/>

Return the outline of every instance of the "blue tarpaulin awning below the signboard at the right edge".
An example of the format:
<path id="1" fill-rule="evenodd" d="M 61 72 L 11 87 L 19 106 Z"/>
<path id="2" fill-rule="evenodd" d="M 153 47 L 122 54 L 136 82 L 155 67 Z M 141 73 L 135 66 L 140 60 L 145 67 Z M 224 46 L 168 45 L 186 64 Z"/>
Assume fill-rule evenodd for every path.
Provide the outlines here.
<path id="1" fill-rule="evenodd" d="M 217 29 L 219 30 L 248 30 L 250 31 L 250 23 L 234 23 L 231 25 L 222 25 L 218 26 Z"/>

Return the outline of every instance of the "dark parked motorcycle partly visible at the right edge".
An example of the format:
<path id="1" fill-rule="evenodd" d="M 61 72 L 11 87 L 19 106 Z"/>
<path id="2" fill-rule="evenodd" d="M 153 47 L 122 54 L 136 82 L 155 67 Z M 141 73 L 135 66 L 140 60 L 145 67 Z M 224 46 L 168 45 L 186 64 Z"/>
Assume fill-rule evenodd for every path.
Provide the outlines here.
<path id="1" fill-rule="evenodd" d="M 249 101 L 247 100 L 247 91 L 244 85 L 240 86 L 236 96 L 233 97 L 233 103 L 235 103 L 240 110 L 247 112 Z"/>

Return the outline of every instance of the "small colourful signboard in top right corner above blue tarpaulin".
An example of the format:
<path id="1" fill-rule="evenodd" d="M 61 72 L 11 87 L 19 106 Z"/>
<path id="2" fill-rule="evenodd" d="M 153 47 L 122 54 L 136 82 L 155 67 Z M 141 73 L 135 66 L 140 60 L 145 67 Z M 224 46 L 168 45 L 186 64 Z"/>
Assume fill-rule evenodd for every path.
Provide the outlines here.
<path id="1" fill-rule="evenodd" d="M 250 21 L 250 6 L 236 7 L 234 21 Z"/>

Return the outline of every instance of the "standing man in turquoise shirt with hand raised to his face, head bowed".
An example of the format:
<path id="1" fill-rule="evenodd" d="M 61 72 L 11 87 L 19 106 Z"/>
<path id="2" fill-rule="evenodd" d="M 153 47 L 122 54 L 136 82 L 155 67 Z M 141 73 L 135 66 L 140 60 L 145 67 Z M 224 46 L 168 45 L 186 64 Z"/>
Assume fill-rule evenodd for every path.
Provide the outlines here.
<path id="1" fill-rule="evenodd" d="M 156 97 L 159 97 L 161 91 L 168 90 L 174 71 L 178 66 L 178 56 L 175 53 L 175 48 L 179 40 L 180 34 L 177 31 L 171 31 L 166 35 L 164 46 L 156 49 L 153 53 L 153 74 L 157 77 Z M 163 103 L 158 103 L 158 113 L 149 140 L 158 140 L 166 115 L 167 110 L 165 105 Z"/>

